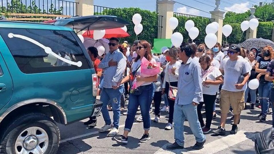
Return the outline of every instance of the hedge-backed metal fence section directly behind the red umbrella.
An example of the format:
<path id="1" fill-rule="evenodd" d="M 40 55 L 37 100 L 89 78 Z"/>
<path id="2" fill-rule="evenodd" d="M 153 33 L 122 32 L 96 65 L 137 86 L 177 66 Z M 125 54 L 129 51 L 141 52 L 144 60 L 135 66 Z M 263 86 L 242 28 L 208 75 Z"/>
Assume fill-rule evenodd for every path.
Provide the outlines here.
<path id="1" fill-rule="evenodd" d="M 155 12 L 138 8 L 109 8 L 94 5 L 94 15 L 114 15 L 131 23 L 127 26 L 130 37 L 121 38 L 120 42 L 127 40 L 132 43 L 137 39 L 136 34 L 134 33 L 134 24 L 132 23 L 132 16 L 135 13 L 139 13 L 142 16 L 141 24 L 143 25 L 143 31 L 138 35 L 138 39 L 147 40 L 148 42 L 153 43 L 154 38 L 161 38 L 163 16 L 160 16 Z"/>

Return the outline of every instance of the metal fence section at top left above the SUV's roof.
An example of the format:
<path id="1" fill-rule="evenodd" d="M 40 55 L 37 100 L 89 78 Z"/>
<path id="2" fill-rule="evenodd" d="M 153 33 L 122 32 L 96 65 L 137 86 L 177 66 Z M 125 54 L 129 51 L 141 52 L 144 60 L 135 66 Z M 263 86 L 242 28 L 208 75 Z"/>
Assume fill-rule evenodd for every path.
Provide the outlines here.
<path id="1" fill-rule="evenodd" d="M 1 13 L 77 15 L 77 4 L 65 0 L 0 0 Z"/>

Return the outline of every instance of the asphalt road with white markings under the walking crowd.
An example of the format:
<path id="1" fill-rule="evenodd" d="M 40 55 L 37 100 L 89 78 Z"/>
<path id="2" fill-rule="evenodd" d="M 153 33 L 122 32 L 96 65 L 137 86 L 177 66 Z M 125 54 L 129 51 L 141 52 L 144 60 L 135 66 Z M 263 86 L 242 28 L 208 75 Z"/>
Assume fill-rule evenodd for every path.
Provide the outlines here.
<path id="1" fill-rule="evenodd" d="M 162 102 L 163 105 L 163 102 Z M 213 119 L 211 129 L 216 129 L 220 122 L 220 109 L 217 104 L 217 118 Z M 230 135 L 231 114 L 228 115 L 225 136 L 214 136 L 212 133 L 206 134 L 207 141 L 204 148 L 200 151 L 193 151 L 192 146 L 195 144 L 194 135 L 190 130 L 188 122 L 185 121 L 185 149 L 168 151 L 165 147 L 174 142 L 174 130 L 166 131 L 164 127 L 167 123 L 167 112 L 162 112 L 162 118 L 159 123 L 152 122 L 150 136 L 151 139 L 146 143 L 139 143 L 139 138 L 143 134 L 143 124 L 134 123 L 131 133 L 129 134 L 128 144 L 117 143 L 113 138 L 106 137 L 107 132 L 99 133 L 98 129 L 104 125 L 102 116 L 98 117 L 97 126 L 93 129 L 86 129 L 83 121 L 78 121 L 70 125 L 59 125 L 61 131 L 61 143 L 58 154 L 76 154 L 76 153 L 201 153 L 201 154 L 255 154 L 254 152 L 254 133 L 271 127 L 272 118 L 268 115 L 265 123 L 259 122 L 257 115 L 260 109 L 244 110 L 241 115 L 241 123 L 238 125 L 239 131 L 236 135 Z M 110 113 L 112 117 L 112 113 Z M 136 117 L 140 115 L 138 111 Z M 154 114 L 151 114 L 154 118 Z M 120 117 L 119 134 L 123 133 L 126 116 Z"/>

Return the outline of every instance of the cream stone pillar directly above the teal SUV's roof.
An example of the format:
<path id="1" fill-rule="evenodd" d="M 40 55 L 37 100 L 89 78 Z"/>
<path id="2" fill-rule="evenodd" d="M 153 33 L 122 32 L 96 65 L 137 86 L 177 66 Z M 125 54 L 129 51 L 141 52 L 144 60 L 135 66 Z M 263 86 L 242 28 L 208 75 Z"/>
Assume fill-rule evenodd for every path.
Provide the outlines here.
<path id="1" fill-rule="evenodd" d="M 93 0 L 75 0 L 77 2 L 77 15 L 94 15 Z"/>

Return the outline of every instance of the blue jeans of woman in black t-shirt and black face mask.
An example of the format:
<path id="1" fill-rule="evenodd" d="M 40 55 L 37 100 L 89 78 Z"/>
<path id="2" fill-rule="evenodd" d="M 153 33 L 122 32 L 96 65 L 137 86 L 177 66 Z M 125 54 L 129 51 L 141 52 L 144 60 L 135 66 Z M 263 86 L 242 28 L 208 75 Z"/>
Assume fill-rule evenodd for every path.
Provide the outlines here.
<path id="1" fill-rule="evenodd" d="M 261 110 L 263 115 L 266 116 L 269 108 L 269 94 L 271 90 L 271 82 L 260 83 L 258 88 L 258 95 L 261 104 Z"/>

